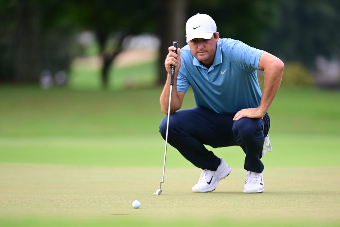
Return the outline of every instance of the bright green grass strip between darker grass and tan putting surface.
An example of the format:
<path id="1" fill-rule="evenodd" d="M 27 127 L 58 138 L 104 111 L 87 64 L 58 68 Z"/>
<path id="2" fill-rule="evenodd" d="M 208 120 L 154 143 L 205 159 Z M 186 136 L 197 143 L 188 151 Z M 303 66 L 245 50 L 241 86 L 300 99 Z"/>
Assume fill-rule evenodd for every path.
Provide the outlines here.
<path id="1" fill-rule="evenodd" d="M 262 161 L 266 167 L 338 166 L 338 135 L 272 134 L 273 152 Z M 0 138 L 1 161 L 6 163 L 68 164 L 81 166 L 163 165 L 164 140 L 156 135 L 111 137 L 24 137 Z M 167 166 L 192 167 L 179 152 L 168 146 Z M 218 148 L 216 155 L 228 164 L 242 167 L 240 147 Z"/>

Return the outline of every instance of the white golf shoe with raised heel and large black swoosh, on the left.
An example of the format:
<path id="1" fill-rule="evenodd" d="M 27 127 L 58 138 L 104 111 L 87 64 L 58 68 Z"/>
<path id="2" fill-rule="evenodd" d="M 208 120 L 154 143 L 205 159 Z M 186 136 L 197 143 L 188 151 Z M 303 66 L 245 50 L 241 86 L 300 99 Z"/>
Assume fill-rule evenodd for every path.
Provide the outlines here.
<path id="1" fill-rule="evenodd" d="M 193 192 L 211 192 L 217 187 L 218 182 L 229 175 L 232 170 L 223 160 L 216 171 L 203 170 L 199 181 L 192 187 Z"/>

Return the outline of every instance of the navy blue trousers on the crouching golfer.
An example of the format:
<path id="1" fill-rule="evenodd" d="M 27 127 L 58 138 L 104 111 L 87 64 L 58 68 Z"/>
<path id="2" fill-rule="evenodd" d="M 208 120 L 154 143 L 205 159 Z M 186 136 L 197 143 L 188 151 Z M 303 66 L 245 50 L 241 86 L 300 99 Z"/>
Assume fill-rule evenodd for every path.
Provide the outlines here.
<path id="1" fill-rule="evenodd" d="M 240 146 L 245 153 L 244 169 L 261 173 L 262 148 L 268 134 L 268 113 L 263 119 L 241 118 L 234 121 L 235 114 L 216 113 L 204 107 L 178 110 L 170 115 L 168 143 L 188 161 L 201 169 L 216 171 L 220 159 L 205 148 Z M 159 126 L 166 137 L 167 116 Z M 227 160 L 226 160 L 227 161 Z"/>

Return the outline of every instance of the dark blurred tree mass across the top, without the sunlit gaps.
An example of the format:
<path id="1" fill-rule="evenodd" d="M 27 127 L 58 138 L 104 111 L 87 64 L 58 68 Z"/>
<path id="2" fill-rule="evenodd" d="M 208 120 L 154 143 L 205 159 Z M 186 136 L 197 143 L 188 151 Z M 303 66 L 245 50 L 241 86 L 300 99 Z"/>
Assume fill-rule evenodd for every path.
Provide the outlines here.
<path id="1" fill-rule="evenodd" d="M 339 53 L 340 46 L 338 0 L 0 2 L 0 80 L 16 75 L 17 80 L 35 81 L 41 69 L 67 70 L 77 49 L 74 34 L 86 29 L 95 31 L 99 43 L 103 87 L 124 37 L 142 32 L 157 34 L 161 40 L 158 75 L 163 84 L 168 46 L 173 40 L 179 41 L 180 47 L 186 44 L 185 22 L 197 13 L 211 15 L 221 37 L 308 66 L 313 66 L 316 55 Z"/>

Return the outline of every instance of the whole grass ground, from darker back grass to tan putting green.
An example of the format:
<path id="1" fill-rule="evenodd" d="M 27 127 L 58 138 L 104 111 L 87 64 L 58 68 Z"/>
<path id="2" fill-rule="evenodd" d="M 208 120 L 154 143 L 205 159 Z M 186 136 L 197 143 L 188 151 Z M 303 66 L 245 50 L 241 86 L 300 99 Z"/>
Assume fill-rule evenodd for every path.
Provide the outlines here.
<path id="1" fill-rule="evenodd" d="M 239 147 L 214 149 L 231 175 L 192 193 L 201 171 L 168 146 L 164 191 L 153 196 L 161 91 L 1 86 L 0 226 L 340 225 L 340 92 L 280 89 L 264 193 L 243 194 Z M 189 91 L 183 108 L 193 106 Z"/>

